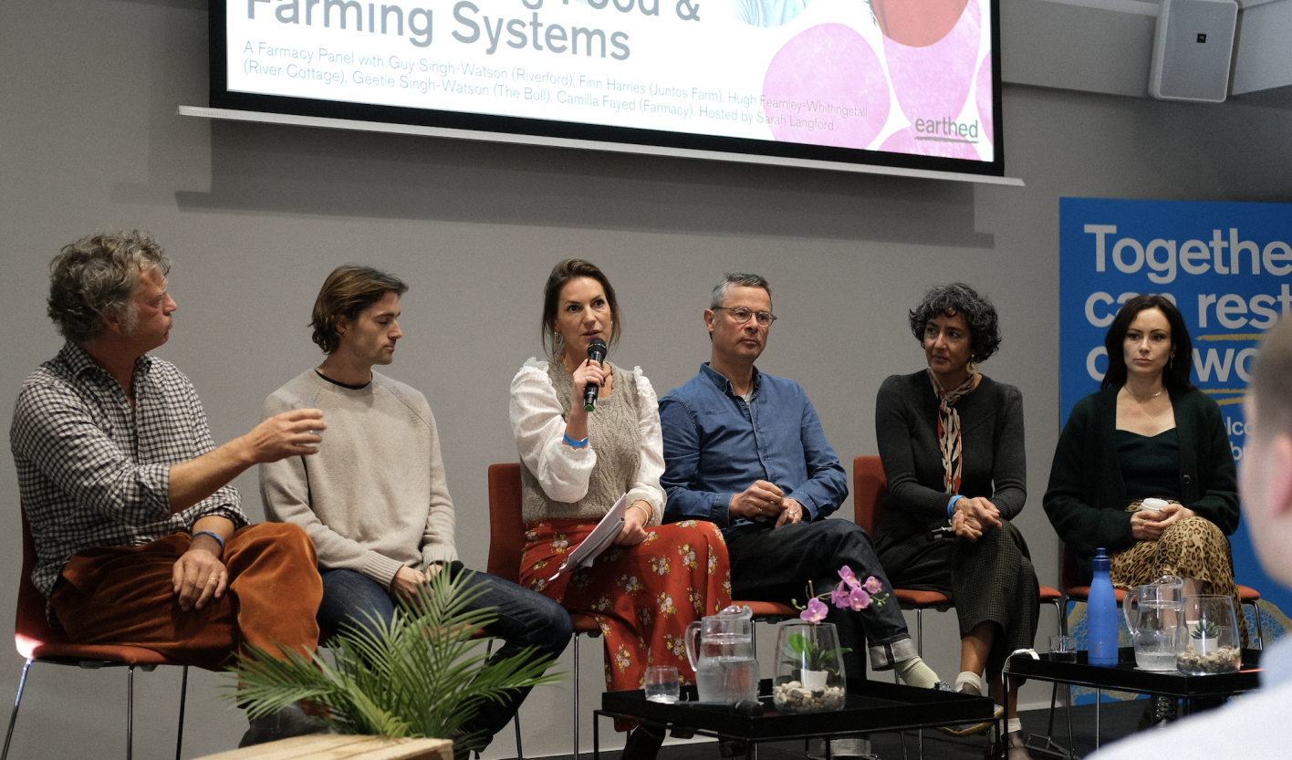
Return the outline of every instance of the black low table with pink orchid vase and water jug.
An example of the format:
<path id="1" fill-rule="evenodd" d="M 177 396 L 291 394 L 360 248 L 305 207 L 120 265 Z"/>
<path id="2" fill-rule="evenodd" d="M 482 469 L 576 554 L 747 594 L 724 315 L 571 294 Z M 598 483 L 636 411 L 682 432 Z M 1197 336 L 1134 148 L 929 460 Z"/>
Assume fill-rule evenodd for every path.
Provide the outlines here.
<path id="1" fill-rule="evenodd" d="M 849 679 L 842 710 L 782 715 L 771 701 L 771 680 L 760 685 L 761 716 L 742 715 L 725 704 L 698 702 L 695 686 L 682 689 L 682 702 L 647 702 L 643 691 L 606 691 L 593 712 L 593 760 L 601 760 L 601 717 L 620 717 L 664 729 L 686 729 L 720 739 L 743 739 L 753 757 L 760 742 L 837 738 L 871 732 L 934 728 L 956 723 L 982 723 L 995 715 L 987 697 L 969 697 L 934 689 Z"/>

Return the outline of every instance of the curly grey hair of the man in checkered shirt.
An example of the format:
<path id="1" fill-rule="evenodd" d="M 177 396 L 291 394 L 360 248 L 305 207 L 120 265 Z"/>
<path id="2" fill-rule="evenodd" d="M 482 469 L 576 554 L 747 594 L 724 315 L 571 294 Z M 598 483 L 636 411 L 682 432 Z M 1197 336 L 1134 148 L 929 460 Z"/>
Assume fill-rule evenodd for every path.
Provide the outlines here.
<path id="1" fill-rule="evenodd" d="M 132 296 L 151 270 L 171 271 L 171 260 L 146 233 L 101 233 L 65 246 L 49 262 L 49 318 L 75 344 L 98 337 L 103 317 L 133 331 L 138 311 Z"/>

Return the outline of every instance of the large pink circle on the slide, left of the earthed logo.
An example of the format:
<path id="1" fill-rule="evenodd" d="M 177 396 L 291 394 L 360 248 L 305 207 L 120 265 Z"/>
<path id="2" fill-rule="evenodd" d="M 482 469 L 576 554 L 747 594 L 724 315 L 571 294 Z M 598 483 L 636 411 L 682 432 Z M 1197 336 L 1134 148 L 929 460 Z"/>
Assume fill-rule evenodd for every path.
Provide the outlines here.
<path id="1" fill-rule="evenodd" d="M 782 142 L 868 147 L 889 112 L 879 56 L 841 23 L 804 30 L 767 65 L 762 112 Z"/>

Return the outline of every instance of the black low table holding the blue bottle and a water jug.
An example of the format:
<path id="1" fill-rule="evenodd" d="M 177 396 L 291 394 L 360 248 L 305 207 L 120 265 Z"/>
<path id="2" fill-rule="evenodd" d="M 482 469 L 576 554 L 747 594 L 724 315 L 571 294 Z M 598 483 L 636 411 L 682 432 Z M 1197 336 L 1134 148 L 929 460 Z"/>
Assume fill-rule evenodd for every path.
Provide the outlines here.
<path id="1" fill-rule="evenodd" d="M 1092 666 L 1087 653 L 1079 651 L 1076 662 L 1050 659 L 1049 654 L 1034 659 L 1028 654 L 1016 654 L 1005 660 L 1005 675 L 1036 679 L 1070 686 L 1094 689 L 1094 748 L 1099 748 L 1099 697 L 1103 689 L 1119 691 L 1138 691 L 1191 699 L 1198 697 L 1230 697 L 1260 685 L 1260 650 L 1243 650 L 1243 668 L 1235 673 L 1213 673 L 1208 676 L 1189 676 L 1178 671 L 1141 671 L 1134 664 L 1134 649 L 1127 646 L 1118 650 L 1118 664 L 1114 667 Z M 1009 712 L 1008 699 L 1005 712 Z M 1071 710 L 1071 703 L 1068 706 Z M 1071 743 L 1071 723 L 1068 724 L 1068 743 Z M 1070 747 L 1071 757 L 1076 757 L 1075 747 Z"/>

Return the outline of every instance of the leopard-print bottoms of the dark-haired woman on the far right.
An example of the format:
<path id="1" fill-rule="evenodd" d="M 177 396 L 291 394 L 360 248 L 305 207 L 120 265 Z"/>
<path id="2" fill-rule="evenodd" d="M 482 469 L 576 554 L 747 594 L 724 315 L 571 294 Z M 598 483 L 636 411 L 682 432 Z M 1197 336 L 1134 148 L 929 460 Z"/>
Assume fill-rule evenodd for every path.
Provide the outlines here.
<path id="1" fill-rule="evenodd" d="M 1127 512 L 1140 508 L 1138 501 Z M 1186 517 L 1162 533 L 1155 542 L 1137 542 L 1128 549 L 1114 552 L 1112 586 L 1124 591 L 1152 583 L 1163 575 L 1194 578 L 1202 582 L 1202 593 L 1220 593 L 1234 600 L 1238 632 L 1247 641 L 1247 619 L 1234 586 L 1234 560 L 1229 539 L 1205 517 Z"/>

